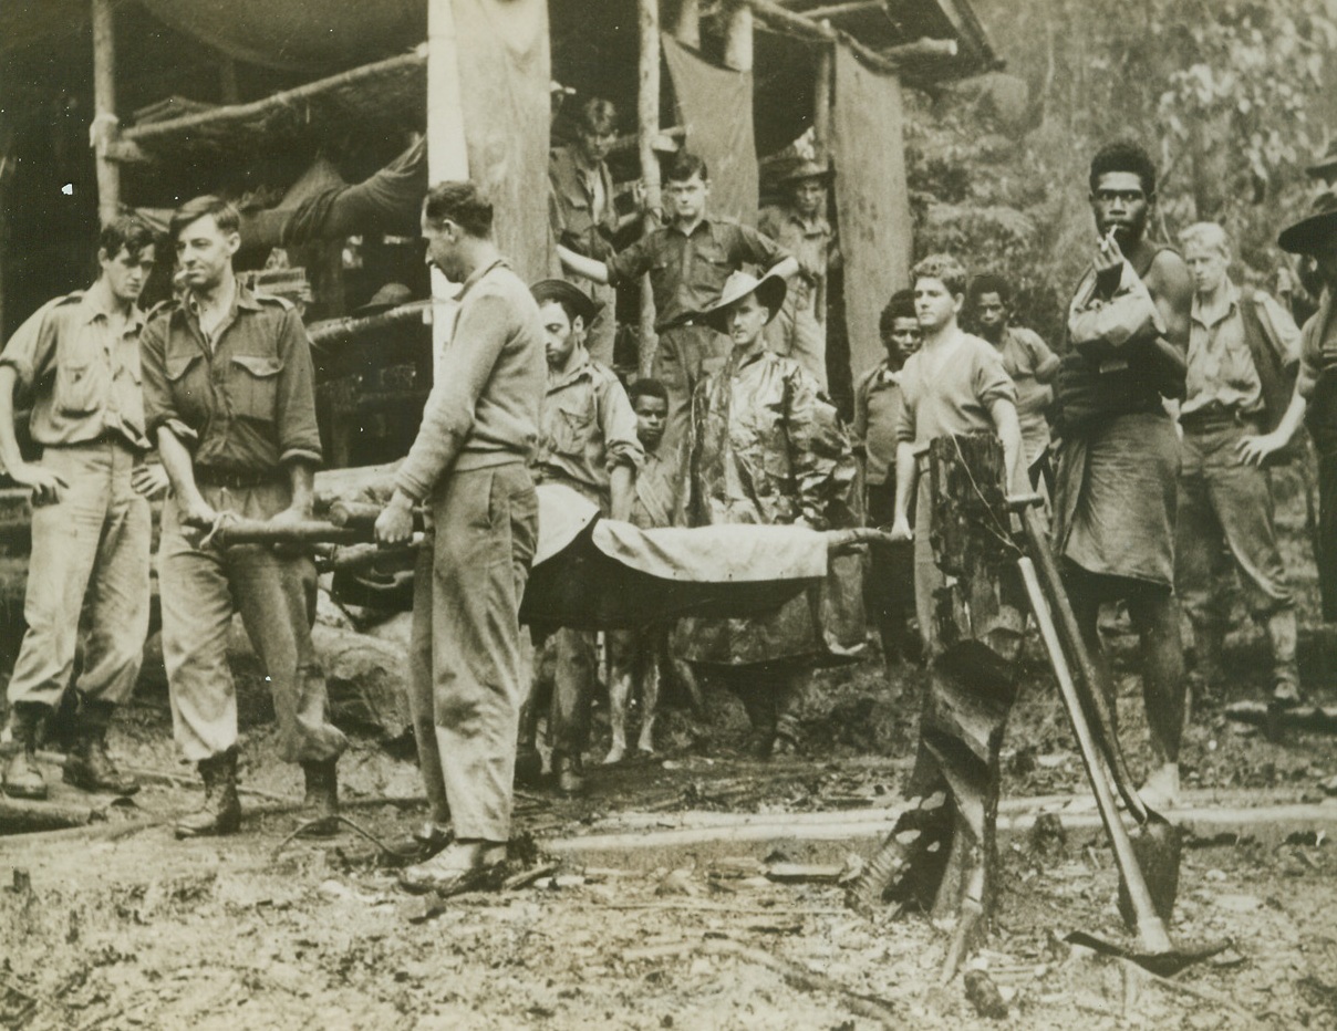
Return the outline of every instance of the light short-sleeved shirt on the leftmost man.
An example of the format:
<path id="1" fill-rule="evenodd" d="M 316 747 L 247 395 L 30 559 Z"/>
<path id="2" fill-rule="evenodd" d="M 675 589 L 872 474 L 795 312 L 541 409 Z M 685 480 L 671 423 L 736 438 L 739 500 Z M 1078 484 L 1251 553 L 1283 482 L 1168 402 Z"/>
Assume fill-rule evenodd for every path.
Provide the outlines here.
<path id="1" fill-rule="evenodd" d="M 29 433 L 44 447 L 87 443 L 115 433 L 147 447 L 139 389 L 143 315 L 132 308 L 118 334 L 91 292 L 56 298 L 33 313 L 0 355 L 19 385 L 35 391 Z"/>

